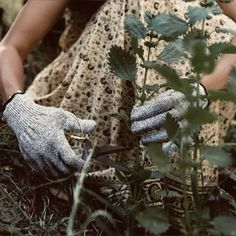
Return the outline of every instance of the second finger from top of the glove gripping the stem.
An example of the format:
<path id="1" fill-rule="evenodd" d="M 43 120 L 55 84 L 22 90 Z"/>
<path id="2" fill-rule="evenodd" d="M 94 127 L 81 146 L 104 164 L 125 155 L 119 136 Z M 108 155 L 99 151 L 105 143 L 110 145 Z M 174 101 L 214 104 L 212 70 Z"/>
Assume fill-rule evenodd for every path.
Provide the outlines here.
<path id="1" fill-rule="evenodd" d="M 160 129 L 165 125 L 166 122 L 166 115 L 170 114 L 172 117 L 179 119 L 179 114 L 176 109 L 172 109 L 170 111 L 164 112 L 162 114 L 153 116 L 151 118 L 141 120 L 141 121 L 134 121 L 131 126 L 131 131 L 135 134 L 142 134 L 146 131 L 150 131 L 153 129 Z"/>

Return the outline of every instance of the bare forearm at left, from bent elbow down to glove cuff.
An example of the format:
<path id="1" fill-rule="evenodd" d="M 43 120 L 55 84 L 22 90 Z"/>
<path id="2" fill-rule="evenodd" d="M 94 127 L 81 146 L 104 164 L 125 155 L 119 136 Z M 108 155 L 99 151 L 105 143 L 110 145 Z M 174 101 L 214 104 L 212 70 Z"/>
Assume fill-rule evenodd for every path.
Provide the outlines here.
<path id="1" fill-rule="evenodd" d="M 0 46 L 0 97 L 1 102 L 17 90 L 24 89 L 23 63 L 18 51 L 13 47 Z"/>

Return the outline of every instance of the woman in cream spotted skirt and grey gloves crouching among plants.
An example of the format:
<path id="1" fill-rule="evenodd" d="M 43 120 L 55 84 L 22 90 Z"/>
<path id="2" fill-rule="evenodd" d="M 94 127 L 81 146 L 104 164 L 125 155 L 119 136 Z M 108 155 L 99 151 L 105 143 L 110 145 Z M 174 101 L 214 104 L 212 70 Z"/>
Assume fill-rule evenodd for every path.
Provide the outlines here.
<path id="1" fill-rule="evenodd" d="M 115 80 L 107 65 L 108 52 L 112 45 L 129 48 L 129 37 L 124 29 L 125 14 L 132 13 L 142 18 L 145 11 L 155 15 L 168 12 L 184 18 L 188 5 L 197 5 L 195 2 L 186 3 L 180 0 L 108 0 L 81 35 L 78 15 L 69 9 L 66 13 L 67 28 L 61 38 L 61 54 L 36 77 L 27 94 L 17 92 L 24 88 L 22 61 L 33 45 L 50 30 L 69 2 L 29 0 L 1 41 L 0 48 L 0 93 L 3 103 L 6 104 L 3 117 L 15 131 L 22 154 L 31 166 L 45 175 L 52 174 L 56 177 L 80 170 L 83 166 L 83 160 L 73 152 L 63 130 L 90 133 L 94 130 L 96 121 L 97 128 L 91 139 L 97 140 L 98 145 L 131 146 L 136 142 L 123 122 L 106 115 L 114 114 L 119 109 L 131 110 L 135 104 L 131 84 Z M 235 1 L 229 4 L 219 2 L 219 5 L 225 15 L 236 19 Z M 206 29 L 212 31 L 220 24 L 225 28 L 234 27 L 233 21 L 228 17 L 214 16 L 214 19 L 207 20 Z M 223 37 L 226 41 L 230 40 L 230 36 L 217 32 L 211 34 L 210 40 L 222 42 Z M 232 39 L 232 43 L 236 44 L 236 37 Z M 160 50 L 161 48 L 157 49 L 158 52 Z M 207 90 L 224 88 L 235 64 L 236 55 L 224 55 L 213 73 L 202 78 L 202 84 Z M 180 73 L 188 74 L 187 65 L 178 66 Z M 141 79 L 142 71 L 139 73 L 138 79 Z M 152 83 L 154 78 L 150 73 L 148 82 Z M 163 82 L 161 79 L 159 81 Z M 211 108 L 220 116 L 217 123 L 207 125 L 203 131 L 202 135 L 208 140 L 208 144 L 222 142 L 235 112 L 232 104 L 213 103 Z M 223 110 L 227 112 L 223 113 Z M 65 111 L 94 121 L 80 120 Z M 72 147 L 77 145 L 76 141 L 71 141 Z M 114 158 L 120 159 L 119 155 Z M 127 154 L 127 159 L 128 162 L 132 159 L 132 153 Z M 89 178 L 100 178 L 101 181 L 95 178 L 96 182 L 103 186 L 113 183 L 114 189 L 120 190 L 113 169 L 99 172 L 101 166 L 97 164 L 93 164 L 92 169 L 97 172 L 91 172 Z M 212 175 L 215 176 L 214 180 L 209 177 Z M 216 184 L 215 167 L 207 165 L 206 176 L 206 186 Z M 150 201 L 155 204 L 155 198 Z"/>

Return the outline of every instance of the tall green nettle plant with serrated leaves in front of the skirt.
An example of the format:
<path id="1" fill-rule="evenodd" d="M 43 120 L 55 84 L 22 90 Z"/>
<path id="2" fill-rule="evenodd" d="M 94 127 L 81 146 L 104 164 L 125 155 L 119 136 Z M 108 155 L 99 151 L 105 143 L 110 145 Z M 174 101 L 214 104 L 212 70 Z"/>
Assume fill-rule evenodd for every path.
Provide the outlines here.
<path id="1" fill-rule="evenodd" d="M 223 1 L 225 3 L 230 1 Z M 189 101 L 189 108 L 183 113 L 185 124 L 179 127 L 171 115 L 167 115 L 165 124 L 168 136 L 172 142 L 179 146 L 179 156 L 175 160 L 175 173 L 172 164 L 161 144 L 152 144 L 145 148 L 154 164 L 159 167 L 158 176 L 163 179 L 163 192 L 160 192 L 163 201 L 166 201 L 166 210 L 145 208 L 142 195 L 139 194 L 145 179 L 151 176 L 151 172 L 145 170 L 142 157 L 138 156 L 134 168 L 129 175 L 129 181 L 121 176 L 121 180 L 130 184 L 131 196 L 129 203 L 135 207 L 129 207 L 129 229 L 138 222 L 145 230 L 153 234 L 161 234 L 168 230 L 168 199 L 176 198 L 183 202 L 184 217 L 181 221 L 181 231 L 186 235 L 199 235 L 203 232 L 210 234 L 223 233 L 233 235 L 236 220 L 231 216 L 216 215 L 211 216 L 207 200 L 212 198 L 212 193 L 207 193 L 204 198 L 199 197 L 199 189 L 202 187 L 201 178 L 203 176 L 202 163 L 208 160 L 227 173 L 227 177 L 236 181 L 236 175 L 231 170 L 232 160 L 230 155 L 224 150 L 224 145 L 209 146 L 200 138 L 202 125 L 216 121 L 216 114 L 199 106 L 200 95 L 192 96 L 193 87 L 191 84 L 197 83 L 199 86 L 202 74 L 211 73 L 216 64 L 216 59 L 222 53 L 236 53 L 236 47 L 229 43 L 208 42 L 211 32 L 205 30 L 206 20 L 212 15 L 222 14 L 221 9 L 214 0 L 202 1 L 199 6 L 189 6 L 185 14 L 185 19 L 181 19 L 174 14 L 152 15 L 145 13 L 142 22 L 135 15 L 126 15 L 125 27 L 130 35 L 132 50 L 125 50 L 114 45 L 109 54 L 110 69 L 116 78 L 128 80 L 133 83 L 136 99 L 141 103 L 154 97 L 160 90 L 160 83 L 148 84 L 148 72 L 153 70 L 158 76 L 164 77 L 166 84 L 162 85 L 176 91 L 182 92 Z M 230 29 L 216 29 L 222 33 L 235 32 Z M 164 48 L 154 61 L 150 60 L 152 51 L 160 44 Z M 147 53 L 145 53 L 147 52 Z M 181 78 L 173 65 L 181 60 L 190 62 L 193 73 L 189 78 Z M 137 82 L 138 69 L 144 70 L 142 86 Z M 236 102 L 236 70 L 232 69 L 228 83 L 228 89 L 209 92 L 206 97 L 209 101 L 232 101 Z M 201 114 L 201 115 L 199 115 Z M 189 145 L 186 137 L 191 137 L 193 143 Z M 119 170 L 117 170 L 119 173 Z M 169 190 L 166 184 L 168 175 L 178 175 L 183 184 L 187 184 L 190 179 L 190 189 L 193 195 L 193 203 L 187 197 L 187 188 L 183 192 Z M 130 177 L 132 176 L 132 178 Z M 203 179 L 202 179 L 203 182 Z M 220 185 L 216 190 L 220 189 Z M 229 193 L 220 190 L 218 197 L 226 199 L 231 205 L 233 214 L 236 213 L 236 202 Z M 189 205 L 194 205 L 194 211 L 189 210 Z M 133 217 L 135 216 L 135 217 Z M 135 220 L 134 220 L 135 218 Z M 194 222 L 194 223 L 193 223 Z M 130 231 L 131 230 L 131 231 Z"/>

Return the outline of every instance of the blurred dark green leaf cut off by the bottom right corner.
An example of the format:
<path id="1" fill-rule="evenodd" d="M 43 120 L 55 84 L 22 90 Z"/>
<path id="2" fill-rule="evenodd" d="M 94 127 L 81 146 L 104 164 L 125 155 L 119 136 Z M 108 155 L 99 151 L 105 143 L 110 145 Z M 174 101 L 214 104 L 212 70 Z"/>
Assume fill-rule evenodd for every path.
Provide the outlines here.
<path id="1" fill-rule="evenodd" d="M 212 225 L 215 230 L 227 236 L 236 235 L 236 219 L 229 216 L 217 216 L 214 218 Z"/>

